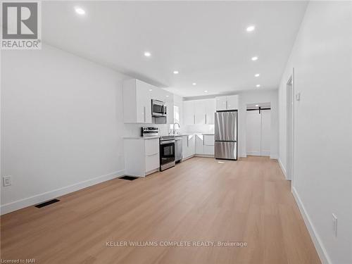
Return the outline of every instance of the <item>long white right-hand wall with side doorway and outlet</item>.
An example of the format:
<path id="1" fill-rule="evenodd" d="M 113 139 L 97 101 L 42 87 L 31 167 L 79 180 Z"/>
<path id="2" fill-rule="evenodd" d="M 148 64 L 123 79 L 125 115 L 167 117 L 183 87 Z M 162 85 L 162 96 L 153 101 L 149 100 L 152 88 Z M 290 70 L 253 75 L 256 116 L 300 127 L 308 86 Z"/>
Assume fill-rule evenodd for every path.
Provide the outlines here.
<path id="1" fill-rule="evenodd" d="M 308 4 L 279 87 L 286 166 L 286 83 L 294 68 L 293 192 L 324 263 L 352 263 L 352 2 Z M 338 236 L 332 232 L 332 213 Z"/>

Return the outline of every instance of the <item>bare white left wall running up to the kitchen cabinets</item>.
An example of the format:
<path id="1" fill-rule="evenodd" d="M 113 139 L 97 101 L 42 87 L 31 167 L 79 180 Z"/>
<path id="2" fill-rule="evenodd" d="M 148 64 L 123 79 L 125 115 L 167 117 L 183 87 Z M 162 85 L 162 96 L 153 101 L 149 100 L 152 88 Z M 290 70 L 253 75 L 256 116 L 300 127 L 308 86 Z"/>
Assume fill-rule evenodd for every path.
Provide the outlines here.
<path id="1" fill-rule="evenodd" d="M 125 76 L 46 45 L 1 63 L 1 213 L 122 173 Z"/>

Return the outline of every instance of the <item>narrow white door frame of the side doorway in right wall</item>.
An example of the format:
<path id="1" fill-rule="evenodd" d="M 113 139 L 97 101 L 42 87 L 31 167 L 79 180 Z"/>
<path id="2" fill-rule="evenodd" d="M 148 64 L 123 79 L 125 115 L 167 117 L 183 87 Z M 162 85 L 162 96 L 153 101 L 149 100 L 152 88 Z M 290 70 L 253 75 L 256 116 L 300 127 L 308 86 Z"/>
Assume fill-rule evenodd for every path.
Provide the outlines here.
<path id="1" fill-rule="evenodd" d="M 294 69 L 286 84 L 287 98 L 287 168 L 286 178 L 294 182 Z M 293 184 L 291 184 L 292 186 Z"/>

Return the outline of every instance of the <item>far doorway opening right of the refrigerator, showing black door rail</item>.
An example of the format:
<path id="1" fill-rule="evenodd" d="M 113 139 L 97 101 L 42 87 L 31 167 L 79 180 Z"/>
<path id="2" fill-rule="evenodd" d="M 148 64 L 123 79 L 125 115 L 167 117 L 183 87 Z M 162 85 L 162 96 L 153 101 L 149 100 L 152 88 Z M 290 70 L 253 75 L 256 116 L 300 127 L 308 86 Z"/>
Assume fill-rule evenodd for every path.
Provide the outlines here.
<path id="1" fill-rule="evenodd" d="M 246 154 L 270 156 L 271 106 L 270 103 L 247 104 Z"/>

